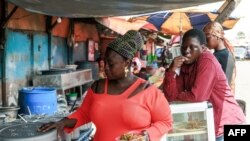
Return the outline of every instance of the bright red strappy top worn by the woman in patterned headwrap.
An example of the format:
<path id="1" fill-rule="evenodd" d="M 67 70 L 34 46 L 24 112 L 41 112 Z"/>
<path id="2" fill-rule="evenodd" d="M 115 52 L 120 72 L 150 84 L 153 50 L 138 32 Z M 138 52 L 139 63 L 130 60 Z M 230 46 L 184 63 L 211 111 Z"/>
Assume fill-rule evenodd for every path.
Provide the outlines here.
<path id="1" fill-rule="evenodd" d="M 145 80 L 138 78 L 119 95 L 108 94 L 108 81 L 102 94 L 88 90 L 83 104 L 68 118 L 77 119 L 74 128 L 92 121 L 96 126 L 94 141 L 114 141 L 116 137 L 130 132 L 147 130 L 151 140 L 159 141 L 172 129 L 172 114 L 163 93 L 150 86 L 135 96 L 128 96 Z"/>

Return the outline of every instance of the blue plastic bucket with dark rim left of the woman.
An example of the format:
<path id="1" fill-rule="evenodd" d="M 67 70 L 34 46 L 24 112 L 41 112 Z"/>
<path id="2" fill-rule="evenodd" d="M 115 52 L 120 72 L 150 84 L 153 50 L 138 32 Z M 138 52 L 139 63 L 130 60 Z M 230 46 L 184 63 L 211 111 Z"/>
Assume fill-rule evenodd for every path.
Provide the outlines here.
<path id="1" fill-rule="evenodd" d="M 20 113 L 48 114 L 57 111 L 56 89 L 46 87 L 30 87 L 19 90 Z"/>

